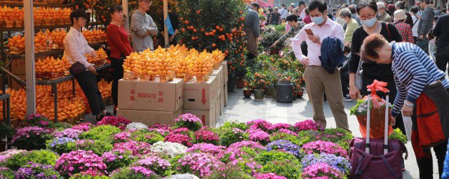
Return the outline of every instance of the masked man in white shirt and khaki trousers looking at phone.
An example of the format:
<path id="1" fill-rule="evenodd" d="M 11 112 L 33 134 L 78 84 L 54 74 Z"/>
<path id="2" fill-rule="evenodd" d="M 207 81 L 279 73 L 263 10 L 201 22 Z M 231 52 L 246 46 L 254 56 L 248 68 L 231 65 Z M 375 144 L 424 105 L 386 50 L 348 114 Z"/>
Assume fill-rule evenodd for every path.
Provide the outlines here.
<path id="1" fill-rule="evenodd" d="M 302 65 L 306 66 L 304 80 L 307 94 L 314 109 L 314 121 L 326 127 L 326 117 L 323 112 L 323 95 L 326 92 L 326 98 L 329 101 L 330 110 L 332 110 L 337 127 L 349 130 L 347 115 L 343 106 L 340 73 L 338 69 L 335 69 L 334 73 L 328 73 L 321 66 L 321 60 L 319 59 L 323 39 L 330 36 L 344 41 L 344 30 L 340 24 L 328 19 L 326 2 L 312 1 L 308 10 L 313 23 L 303 27 L 292 39 L 292 48 L 296 58 L 300 60 Z M 311 30 L 313 34 L 308 34 L 307 31 L 309 30 L 306 31 L 306 29 Z M 307 43 L 307 57 L 302 55 L 301 43 L 303 41 Z"/>

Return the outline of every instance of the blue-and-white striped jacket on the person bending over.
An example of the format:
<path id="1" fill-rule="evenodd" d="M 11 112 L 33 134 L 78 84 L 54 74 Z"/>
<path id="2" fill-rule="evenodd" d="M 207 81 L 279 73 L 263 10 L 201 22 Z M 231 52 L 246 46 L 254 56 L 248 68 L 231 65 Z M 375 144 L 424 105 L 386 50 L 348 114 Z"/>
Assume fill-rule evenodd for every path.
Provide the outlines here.
<path id="1" fill-rule="evenodd" d="M 394 107 L 391 110 L 392 116 L 398 115 L 406 99 L 415 103 L 424 87 L 436 80 L 441 80 L 443 86 L 446 89 L 449 88 L 449 81 L 445 78 L 445 73 L 440 71 L 429 55 L 417 45 L 392 42 L 392 47 L 391 69 L 398 89 Z"/>

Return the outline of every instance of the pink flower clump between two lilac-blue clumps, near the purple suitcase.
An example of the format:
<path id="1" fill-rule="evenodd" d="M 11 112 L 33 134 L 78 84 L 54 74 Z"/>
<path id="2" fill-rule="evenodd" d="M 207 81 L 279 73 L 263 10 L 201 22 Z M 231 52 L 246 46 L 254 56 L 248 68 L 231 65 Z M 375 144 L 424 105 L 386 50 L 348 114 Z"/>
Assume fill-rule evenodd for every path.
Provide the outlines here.
<path id="1" fill-rule="evenodd" d="M 302 145 L 302 152 L 305 154 L 333 154 L 336 156 L 347 157 L 347 151 L 333 142 L 313 141 Z"/>

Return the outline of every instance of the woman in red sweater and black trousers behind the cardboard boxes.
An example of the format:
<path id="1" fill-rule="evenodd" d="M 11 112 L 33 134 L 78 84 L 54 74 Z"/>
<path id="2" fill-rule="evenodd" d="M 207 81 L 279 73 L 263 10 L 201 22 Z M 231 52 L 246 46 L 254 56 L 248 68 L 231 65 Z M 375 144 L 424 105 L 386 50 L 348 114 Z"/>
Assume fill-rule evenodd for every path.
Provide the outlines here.
<path id="1" fill-rule="evenodd" d="M 129 43 L 128 33 L 123 27 L 123 8 L 113 6 L 109 8 L 112 22 L 107 26 L 107 43 L 111 48 L 111 66 L 114 71 L 112 80 L 112 99 L 114 99 L 114 114 L 117 110 L 117 98 L 119 95 L 119 80 L 123 78 L 123 59 L 133 51 Z"/>

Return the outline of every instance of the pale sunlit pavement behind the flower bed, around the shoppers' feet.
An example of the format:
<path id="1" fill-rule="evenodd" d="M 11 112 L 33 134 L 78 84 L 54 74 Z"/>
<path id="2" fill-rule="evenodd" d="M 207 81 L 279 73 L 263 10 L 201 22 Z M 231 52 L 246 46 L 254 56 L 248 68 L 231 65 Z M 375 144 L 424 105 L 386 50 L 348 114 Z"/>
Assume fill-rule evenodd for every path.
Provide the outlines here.
<path id="1" fill-rule="evenodd" d="M 254 97 L 254 96 L 252 96 Z M 344 102 L 346 113 L 349 115 L 349 109 L 355 105 L 354 101 Z M 328 120 L 328 128 L 335 127 L 333 115 L 330 112 L 328 103 L 325 103 L 324 113 Z M 243 92 L 241 90 L 234 90 L 229 92 L 229 102 L 225 107 L 225 111 L 219 118 L 217 127 L 221 126 L 226 121 L 247 122 L 254 119 L 265 119 L 272 123 L 288 123 L 295 124 L 295 122 L 311 119 L 312 108 L 308 101 L 307 94 L 304 94 L 304 99 L 297 99 L 293 103 L 276 103 L 274 99 L 264 99 L 263 101 L 256 101 L 254 99 L 243 99 Z M 358 122 L 356 117 L 348 116 L 349 128 L 353 131 L 354 136 L 361 136 L 358 130 Z M 406 171 L 403 172 L 403 178 L 419 178 L 419 172 L 415 160 L 415 153 L 411 143 L 406 144 L 409 151 L 409 157 L 406 160 Z M 434 158 L 434 178 L 438 178 L 438 166 Z"/>

